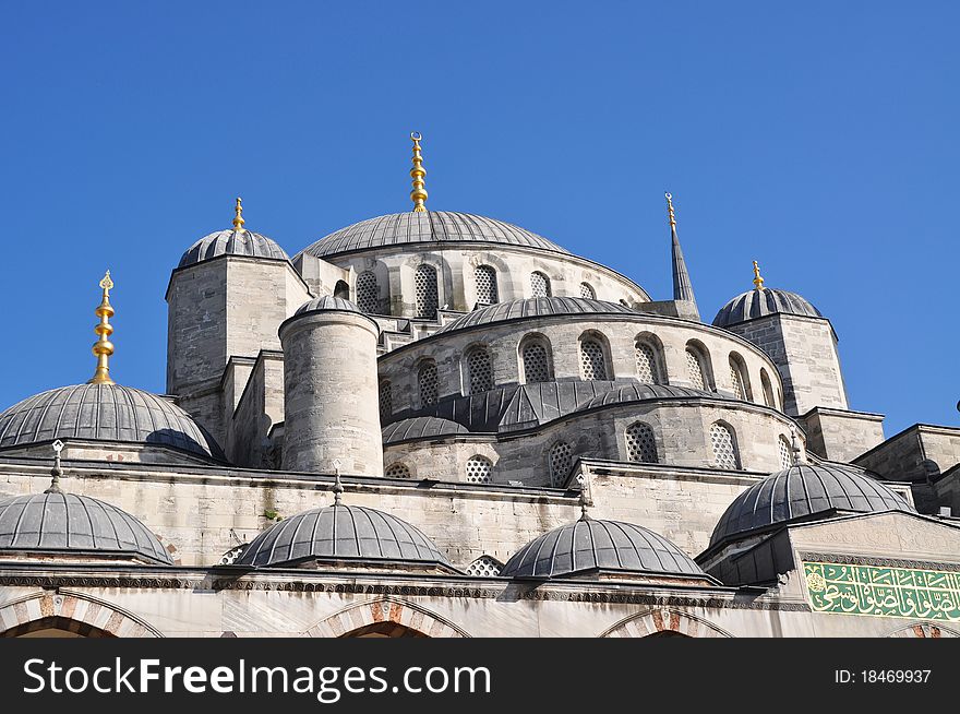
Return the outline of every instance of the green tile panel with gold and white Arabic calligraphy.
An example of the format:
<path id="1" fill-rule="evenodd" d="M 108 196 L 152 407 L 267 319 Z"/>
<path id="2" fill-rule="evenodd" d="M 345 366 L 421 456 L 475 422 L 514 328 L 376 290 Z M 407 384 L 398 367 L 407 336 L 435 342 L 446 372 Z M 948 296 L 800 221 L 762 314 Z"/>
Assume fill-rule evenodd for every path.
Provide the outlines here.
<path id="1" fill-rule="evenodd" d="M 803 572 L 816 612 L 960 621 L 960 573 L 805 561 Z"/>

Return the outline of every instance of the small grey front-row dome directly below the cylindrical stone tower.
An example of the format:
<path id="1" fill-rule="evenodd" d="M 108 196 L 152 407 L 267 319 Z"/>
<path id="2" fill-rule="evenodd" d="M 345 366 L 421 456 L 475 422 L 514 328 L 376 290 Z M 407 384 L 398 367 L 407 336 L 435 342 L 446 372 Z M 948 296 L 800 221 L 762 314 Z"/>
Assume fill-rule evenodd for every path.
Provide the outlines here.
<path id="1" fill-rule="evenodd" d="M 409 523 L 359 505 L 335 503 L 285 519 L 261 533 L 238 566 L 293 566 L 303 560 L 441 564 L 435 545 Z"/>

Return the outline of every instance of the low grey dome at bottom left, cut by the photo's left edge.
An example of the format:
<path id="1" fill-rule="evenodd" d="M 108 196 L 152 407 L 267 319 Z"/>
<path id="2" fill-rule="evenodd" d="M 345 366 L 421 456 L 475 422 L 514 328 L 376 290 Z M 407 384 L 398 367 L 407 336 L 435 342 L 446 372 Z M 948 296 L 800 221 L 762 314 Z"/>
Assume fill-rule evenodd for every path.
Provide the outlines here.
<path id="1" fill-rule="evenodd" d="M 109 556 L 172 566 L 135 517 L 87 496 L 35 493 L 0 502 L 0 555 Z"/>

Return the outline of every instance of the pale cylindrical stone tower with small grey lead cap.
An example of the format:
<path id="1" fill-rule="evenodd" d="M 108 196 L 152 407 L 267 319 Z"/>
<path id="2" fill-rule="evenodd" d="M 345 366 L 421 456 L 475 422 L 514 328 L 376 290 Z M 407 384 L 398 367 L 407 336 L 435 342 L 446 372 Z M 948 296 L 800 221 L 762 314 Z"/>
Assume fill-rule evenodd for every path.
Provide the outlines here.
<path id="1" fill-rule="evenodd" d="M 279 330 L 284 471 L 383 476 L 376 321 L 343 298 L 310 300 Z"/>

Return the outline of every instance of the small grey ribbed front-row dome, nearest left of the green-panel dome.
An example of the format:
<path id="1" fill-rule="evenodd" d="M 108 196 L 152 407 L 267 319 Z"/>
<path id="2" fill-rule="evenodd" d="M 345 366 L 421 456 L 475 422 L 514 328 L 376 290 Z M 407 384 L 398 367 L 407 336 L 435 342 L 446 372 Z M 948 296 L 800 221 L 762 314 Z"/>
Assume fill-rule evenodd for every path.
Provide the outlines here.
<path id="1" fill-rule="evenodd" d="M 503 567 L 504 578 L 560 578 L 592 570 L 705 576 L 663 536 L 633 523 L 580 519 L 531 540 Z"/>

